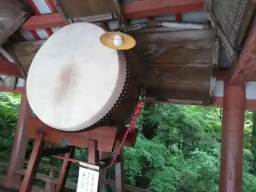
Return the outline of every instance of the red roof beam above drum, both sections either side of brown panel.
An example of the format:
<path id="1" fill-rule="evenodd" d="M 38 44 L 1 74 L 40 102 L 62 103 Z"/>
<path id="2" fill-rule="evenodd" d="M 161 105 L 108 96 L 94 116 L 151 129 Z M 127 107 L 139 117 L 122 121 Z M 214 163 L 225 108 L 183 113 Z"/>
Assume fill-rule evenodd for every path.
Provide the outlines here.
<path id="1" fill-rule="evenodd" d="M 203 11 L 204 0 L 136 0 L 121 5 L 125 19 L 147 18 L 150 16 Z M 35 15 L 30 17 L 21 30 L 47 29 L 66 25 L 61 14 Z"/>

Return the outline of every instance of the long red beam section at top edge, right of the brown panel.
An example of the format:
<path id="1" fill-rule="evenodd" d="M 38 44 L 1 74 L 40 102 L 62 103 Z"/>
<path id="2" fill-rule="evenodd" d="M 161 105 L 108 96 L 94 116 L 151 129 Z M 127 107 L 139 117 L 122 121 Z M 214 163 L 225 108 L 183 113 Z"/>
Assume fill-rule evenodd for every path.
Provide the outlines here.
<path id="1" fill-rule="evenodd" d="M 204 10 L 204 0 L 136 0 L 122 5 L 126 19 Z"/>

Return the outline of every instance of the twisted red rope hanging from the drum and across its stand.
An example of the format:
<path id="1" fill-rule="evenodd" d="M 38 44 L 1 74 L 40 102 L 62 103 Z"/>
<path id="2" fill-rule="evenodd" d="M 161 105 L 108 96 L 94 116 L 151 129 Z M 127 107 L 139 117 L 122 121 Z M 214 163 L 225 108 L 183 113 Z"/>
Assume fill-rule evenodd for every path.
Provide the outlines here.
<path id="1" fill-rule="evenodd" d="M 127 138 L 127 136 L 134 132 L 135 131 L 135 128 L 136 128 L 136 118 L 138 117 L 138 115 L 140 114 L 141 110 L 142 110 L 142 107 L 143 107 L 143 102 L 142 101 L 139 101 L 138 104 L 137 104 L 137 108 L 134 112 L 134 114 L 132 115 L 132 119 L 131 119 L 131 122 L 129 124 L 129 127 L 127 128 L 124 136 L 123 136 L 123 139 L 121 141 L 121 143 L 119 144 L 117 150 L 116 150 L 116 153 L 110 163 L 110 166 L 109 167 L 112 167 L 114 164 L 115 164 L 115 161 L 116 161 L 116 158 L 117 156 L 119 155 L 123 145 L 124 145 L 124 142 Z M 53 156 L 57 159 L 62 159 L 62 160 L 66 160 L 66 161 L 70 161 L 70 162 L 73 162 L 73 163 L 79 163 L 79 162 L 84 162 L 84 163 L 87 163 L 87 161 L 79 161 L 79 160 L 76 160 L 76 159 L 71 159 L 71 158 L 68 158 L 68 157 L 60 157 L 60 156 Z"/>

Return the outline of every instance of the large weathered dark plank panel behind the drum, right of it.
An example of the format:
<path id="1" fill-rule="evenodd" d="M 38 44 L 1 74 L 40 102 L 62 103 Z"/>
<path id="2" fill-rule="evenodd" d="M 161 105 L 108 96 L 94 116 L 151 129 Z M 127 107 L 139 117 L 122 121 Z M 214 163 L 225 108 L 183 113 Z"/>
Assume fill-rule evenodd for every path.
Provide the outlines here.
<path id="1" fill-rule="evenodd" d="M 214 30 L 151 28 L 133 31 L 131 35 L 137 42 L 136 52 L 144 62 L 148 97 L 209 100 Z"/>

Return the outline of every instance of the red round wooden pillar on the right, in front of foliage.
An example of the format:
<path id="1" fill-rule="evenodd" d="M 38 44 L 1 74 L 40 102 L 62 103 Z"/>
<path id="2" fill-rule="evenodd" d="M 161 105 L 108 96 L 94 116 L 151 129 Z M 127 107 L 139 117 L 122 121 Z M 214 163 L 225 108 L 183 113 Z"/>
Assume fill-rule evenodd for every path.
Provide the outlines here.
<path id="1" fill-rule="evenodd" d="M 220 192 L 242 192 L 245 88 L 224 85 Z"/>

